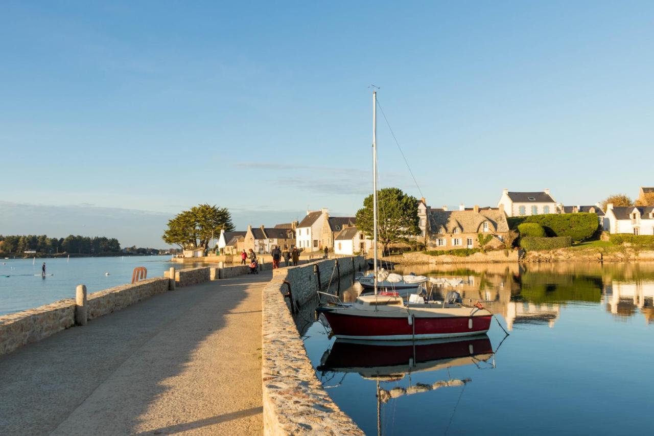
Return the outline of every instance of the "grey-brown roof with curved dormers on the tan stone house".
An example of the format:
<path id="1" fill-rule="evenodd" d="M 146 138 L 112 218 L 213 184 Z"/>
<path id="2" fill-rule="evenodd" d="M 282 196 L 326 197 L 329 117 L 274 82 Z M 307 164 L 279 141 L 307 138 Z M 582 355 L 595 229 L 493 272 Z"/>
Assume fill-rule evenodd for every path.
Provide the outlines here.
<path id="1" fill-rule="evenodd" d="M 440 228 L 444 229 L 447 234 L 454 233 L 458 227 L 461 233 L 479 233 L 483 231 L 481 227 L 484 221 L 490 223 L 494 232 L 504 233 L 509 231 L 509 225 L 506 222 L 504 211 L 492 209 L 479 209 L 479 213 L 472 210 L 451 210 L 443 211 L 432 209 L 429 214 L 430 227 L 432 232 L 438 233 Z"/>

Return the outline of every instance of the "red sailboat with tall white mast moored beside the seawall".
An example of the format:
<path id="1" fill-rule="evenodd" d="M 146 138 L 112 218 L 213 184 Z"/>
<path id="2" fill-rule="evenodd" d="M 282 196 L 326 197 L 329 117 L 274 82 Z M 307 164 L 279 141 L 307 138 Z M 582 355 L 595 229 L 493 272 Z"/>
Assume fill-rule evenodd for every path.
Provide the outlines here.
<path id="1" fill-rule="evenodd" d="M 337 338 L 360 340 L 416 340 L 480 335 L 490 328 L 492 314 L 479 302 L 465 306 L 451 291 L 443 300 L 417 294 L 405 301 L 397 293 L 377 292 L 377 91 L 373 90 L 373 252 L 374 295 L 360 295 L 354 303 L 334 301 L 317 311 L 327 319 Z"/>

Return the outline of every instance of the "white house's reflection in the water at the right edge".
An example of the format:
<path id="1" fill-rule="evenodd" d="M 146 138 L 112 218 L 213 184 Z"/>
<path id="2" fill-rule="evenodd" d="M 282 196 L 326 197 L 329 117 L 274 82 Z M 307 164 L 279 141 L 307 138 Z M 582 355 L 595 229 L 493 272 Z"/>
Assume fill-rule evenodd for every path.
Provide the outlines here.
<path id="1" fill-rule="evenodd" d="M 617 319 L 640 311 L 646 323 L 654 323 L 654 280 L 611 280 L 604 287 L 604 301 Z"/>

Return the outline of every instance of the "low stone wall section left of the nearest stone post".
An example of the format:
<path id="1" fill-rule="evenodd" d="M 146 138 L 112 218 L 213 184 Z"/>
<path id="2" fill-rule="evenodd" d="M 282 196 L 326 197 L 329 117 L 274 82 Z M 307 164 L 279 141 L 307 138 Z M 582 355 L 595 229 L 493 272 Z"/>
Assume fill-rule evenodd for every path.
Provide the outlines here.
<path id="1" fill-rule="evenodd" d="M 75 324 L 75 300 L 59 300 L 16 314 L 0 316 L 0 355 L 10 353 Z"/>

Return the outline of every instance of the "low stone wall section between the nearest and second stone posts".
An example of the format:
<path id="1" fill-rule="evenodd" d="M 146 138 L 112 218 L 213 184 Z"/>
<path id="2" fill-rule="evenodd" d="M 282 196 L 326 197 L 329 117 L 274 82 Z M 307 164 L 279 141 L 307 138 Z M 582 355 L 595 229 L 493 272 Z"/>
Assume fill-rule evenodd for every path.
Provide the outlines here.
<path id="1" fill-rule="evenodd" d="M 167 278 L 152 278 L 94 292 L 88 295 L 86 318 L 99 318 L 124 309 L 152 295 L 167 291 L 168 286 Z"/>

